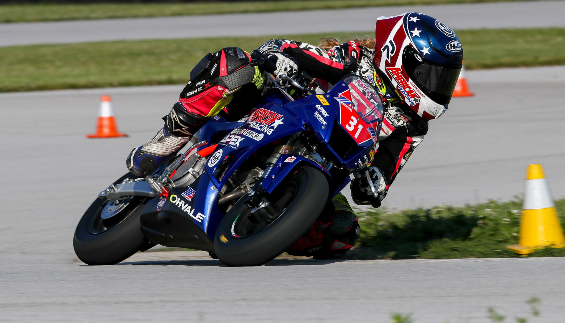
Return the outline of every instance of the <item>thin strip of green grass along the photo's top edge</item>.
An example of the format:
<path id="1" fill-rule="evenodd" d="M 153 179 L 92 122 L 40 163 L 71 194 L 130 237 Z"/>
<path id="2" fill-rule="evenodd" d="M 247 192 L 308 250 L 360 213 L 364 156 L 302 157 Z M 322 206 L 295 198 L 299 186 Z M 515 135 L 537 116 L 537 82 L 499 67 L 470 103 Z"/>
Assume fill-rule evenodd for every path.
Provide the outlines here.
<path id="1" fill-rule="evenodd" d="M 498 2 L 508 0 L 286 0 L 197 3 L 103 3 L 61 5 L 0 5 L 0 22 L 232 14 L 282 10 Z M 515 0 L 516 1 L 516 0 Z"/>

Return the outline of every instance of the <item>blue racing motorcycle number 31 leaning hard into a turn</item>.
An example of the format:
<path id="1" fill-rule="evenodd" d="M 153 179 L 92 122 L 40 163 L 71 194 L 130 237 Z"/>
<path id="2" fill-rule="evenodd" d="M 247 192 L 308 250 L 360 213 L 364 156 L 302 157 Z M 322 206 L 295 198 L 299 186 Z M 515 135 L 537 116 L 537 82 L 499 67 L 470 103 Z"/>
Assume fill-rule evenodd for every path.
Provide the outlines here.
<path id="1" fill-rule="evenodd" d="M 252 64 L 275 70 L 266 58 Z M 211 118 L 153 174 L 127 173 L 103 190 L 75 230 L 79 259 L 116 264 L 162 245 L 262 265 L 307 232 L 351 175 L 376 198 L 367 166 L 383 120 L 377 90 L 356 75 L 327 92 L 305 72 L 281 78 L 250 115 Z"/>

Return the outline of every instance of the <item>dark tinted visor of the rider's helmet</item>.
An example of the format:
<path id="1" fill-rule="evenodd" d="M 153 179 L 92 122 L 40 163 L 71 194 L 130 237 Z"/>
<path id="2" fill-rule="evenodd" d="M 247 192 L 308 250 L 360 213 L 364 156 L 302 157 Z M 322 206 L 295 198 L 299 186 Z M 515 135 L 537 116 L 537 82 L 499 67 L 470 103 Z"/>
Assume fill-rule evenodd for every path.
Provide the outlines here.
<path id="1" fill-rule="evenodd" d="M 408 49 L 408 47 L 407 47 Z M 403 65 L 408 76 L 429 98 L 439 104 L 451 101 L 461 67 L 447 67 L 433 64 L 421 56 L 416 58 L 414 50 L 406 50 Z"/>

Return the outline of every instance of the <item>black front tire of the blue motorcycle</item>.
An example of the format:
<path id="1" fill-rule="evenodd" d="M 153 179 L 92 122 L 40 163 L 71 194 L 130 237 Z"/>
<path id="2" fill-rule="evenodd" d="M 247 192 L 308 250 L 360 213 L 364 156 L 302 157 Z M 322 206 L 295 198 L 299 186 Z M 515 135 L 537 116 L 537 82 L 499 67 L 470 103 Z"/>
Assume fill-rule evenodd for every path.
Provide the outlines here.
<path id="1" fill-rule="evenodd" d="M 277 206 L 275 199 L 283 199 L 289 190 L 293 191 L 292 197 L 284 202 L 284 207 Z M 250 212 L 245 205 L 246 197 L 241 198 L 225 215 L 216 232 L 216 256 L 228 266 L 260 266 L 271 261 L 310 229 L 323 211 L 328 194 L 328 181 L 321 171 L 300 167 L 269 197 L 269 202 L 281 210 L 280 215 L 258 232 L 235 237 L 232 225 L 236 228 L 239 217 L 245 219 L 246 212 Z"/>

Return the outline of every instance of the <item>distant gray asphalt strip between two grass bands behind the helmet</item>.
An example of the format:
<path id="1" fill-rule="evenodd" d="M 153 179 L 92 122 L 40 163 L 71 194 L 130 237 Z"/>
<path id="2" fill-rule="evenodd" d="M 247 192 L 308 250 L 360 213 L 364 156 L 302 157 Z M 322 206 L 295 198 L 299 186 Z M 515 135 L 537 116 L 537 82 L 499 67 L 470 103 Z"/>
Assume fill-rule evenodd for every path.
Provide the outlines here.
<path id="1" fill-rule="evenodd" d="M 468 3 L 258 14 L 0 24 L 0 46 L 373 30 L 378 16 L 424 12 L 454 29 L 564 27 L 565 1 Z M 534 14 L 532 14 L 534 13 Z"/>

